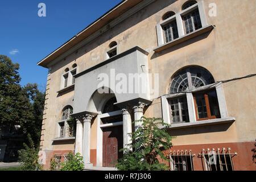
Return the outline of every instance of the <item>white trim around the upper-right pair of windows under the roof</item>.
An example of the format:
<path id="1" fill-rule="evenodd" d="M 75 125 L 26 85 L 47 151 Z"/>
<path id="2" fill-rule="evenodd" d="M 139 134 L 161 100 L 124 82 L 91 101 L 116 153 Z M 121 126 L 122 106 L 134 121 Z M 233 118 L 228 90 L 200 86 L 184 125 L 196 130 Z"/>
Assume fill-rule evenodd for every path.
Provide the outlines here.
<path id="1" fill-rule="evenodd" d="M 204 1 L 202 0 L 200 2 L 197 2 L 195 5 L 188 7 L 187 9 L 182 10 L 179 13 L 176 13 L 174 16 L 167 18 L 163 22 L 156 24 L 156 35 L 158 38 L 158 47 L 166 44 L 166 42 L 164 41 L 163 26 L 169 22 L 172 22 L 175 19 L 177 22 L 177 30 L 178 30 L 179 38 L 181 38 L 183 36 L 187 36 L 187 35 L 185 35 L 182 16 L 195 10 L 195 9 L 199 10 L 202 28 L 209 26 L 209 24 L 207 22 L 207 16 L 205 14 Z M 170 43 L 170 42 L 168 42 L 168 43 Z"/>

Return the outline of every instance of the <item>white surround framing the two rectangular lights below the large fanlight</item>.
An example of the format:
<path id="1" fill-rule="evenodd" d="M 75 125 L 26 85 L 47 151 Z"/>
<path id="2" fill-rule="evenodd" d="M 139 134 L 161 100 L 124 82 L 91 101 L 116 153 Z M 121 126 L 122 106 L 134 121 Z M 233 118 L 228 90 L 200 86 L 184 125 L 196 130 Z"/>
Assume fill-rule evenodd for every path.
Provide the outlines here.
<path id="1" fill-rule="evenodd" d="M 162 114 L 163 114 L 164 122 L 166 122 L 168 124 L 173 124 L 173 125 L 178 124 L 178 123 L 173 123 L 171 121 L 170 106 L 169 106 L 168 100 L 171 98 L 176 98 L 176 97 L 180 97 L 180 96 L 187 96 L 189 123 L 199 122 L 199 121 L 196 121 L 196 110 L 195 110 L 195 104 L 194 104 L 194 100 L 193 100 L 193 93 L 198 92 L 198 91 L 212 89 L 212 88 L 216 89 L 218 105 L 219 105 L 220 114 L 221 114 L 221 118 L 218 118 L 216 121 L 219 121 L 220 119 L 226 121 L 226 118 L 228 118 L 228 110 L 226 108 L 226 100 L 225 100 L 223 86 L 222 86 L 222 83 L 219 82 L 217 84 L 201 86 L 200 88 L 191 90 L 191 92 L 188 92 L 188 93 L 176 93 L 176 94 L 168 94 L 168 95 L 162 96 L 161 97 Z M 212 121 L 212 120 L 213 119 L 208 119 L 205 121 Z M 205 121 L 200 121 L 200 122 L 204 123 Z M 188 124 L 188 123 L 180 123 L 180 125 L 182 125 L 182 124 Z"/>

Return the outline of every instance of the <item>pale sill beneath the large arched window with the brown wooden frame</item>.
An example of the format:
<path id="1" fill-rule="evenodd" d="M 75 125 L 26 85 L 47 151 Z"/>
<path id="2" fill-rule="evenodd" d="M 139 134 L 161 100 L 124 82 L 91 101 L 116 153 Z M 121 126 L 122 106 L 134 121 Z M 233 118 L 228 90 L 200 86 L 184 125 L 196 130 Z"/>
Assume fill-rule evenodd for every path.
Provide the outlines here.
<path id="1" fill-rule="evenodd" d="M 236 121 L 236 118 L 228 117 L 228 118 L 209 119 L 204 121 L 195 121 L 195 122 L 188 122 L 188 123 L 172 123 L 169 129 L 181 129 L 185 127 L 218 125 L 218 124 L 230 123 L 234 121 Z"/>

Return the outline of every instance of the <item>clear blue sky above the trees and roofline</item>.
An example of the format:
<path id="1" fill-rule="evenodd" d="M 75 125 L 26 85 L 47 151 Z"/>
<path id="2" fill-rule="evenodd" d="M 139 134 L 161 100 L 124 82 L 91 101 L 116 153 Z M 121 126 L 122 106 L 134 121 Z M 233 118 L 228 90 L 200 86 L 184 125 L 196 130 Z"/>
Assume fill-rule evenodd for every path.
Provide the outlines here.
<path id="1" fill-rule="evenodd" d="M 38 4 L 46 4 L 46 17 Z M 20 84 L 46 86 L 47 69 L 36 65 L 121 0 L 0 1 L 0 54 L 20 64 Z"/>

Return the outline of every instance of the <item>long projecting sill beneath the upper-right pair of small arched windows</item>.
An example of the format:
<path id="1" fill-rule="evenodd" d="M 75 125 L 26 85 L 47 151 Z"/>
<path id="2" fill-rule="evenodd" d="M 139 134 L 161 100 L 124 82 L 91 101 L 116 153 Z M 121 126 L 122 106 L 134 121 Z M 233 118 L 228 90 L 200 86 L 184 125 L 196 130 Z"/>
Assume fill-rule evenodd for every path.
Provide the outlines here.
<path id="1" fill-rule="evenodd" d="M 175 40 L 172 40 L 171 42 L 163 44 L 162 46 L 159 46 L 159 47 L 155 48 L 154 51 L 155 52 L 163 51 L 164 49 L 173 47 L 173 46 L 175 46 L 177 44 L 180 44 L 180 43 L 183 43 L 183 42 L 185 42 L 185 41 L 187 41 L 189 39 L 195 38 L 196 36 L 199 36 L 199 35 L 202 35 L 202 34 L 204 34 L 206 32 L 209 32 L 209 31 L 213 30 L 213 28 L 214 27 L 212 25 L 200 28 L 199 30 L 193 31 L 190 34 L 181 36 L 180 38 L 177 38 Z"/>

